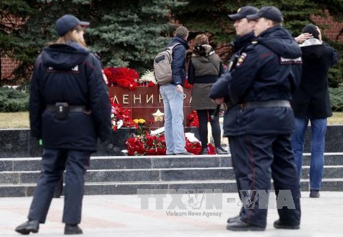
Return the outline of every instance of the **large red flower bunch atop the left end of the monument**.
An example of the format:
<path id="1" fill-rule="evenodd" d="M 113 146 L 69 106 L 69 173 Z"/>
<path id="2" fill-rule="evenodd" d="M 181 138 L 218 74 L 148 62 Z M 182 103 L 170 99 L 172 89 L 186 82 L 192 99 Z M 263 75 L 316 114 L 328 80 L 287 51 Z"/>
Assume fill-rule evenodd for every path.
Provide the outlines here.
<path id="1" fill-rule="evenodd" d="M 130 90 L 137 87 L 139 75 L 134 69 L 109 66 L 104 68 L 104 73 L 108 79 L 108 86 L 120 86 Z"/>

